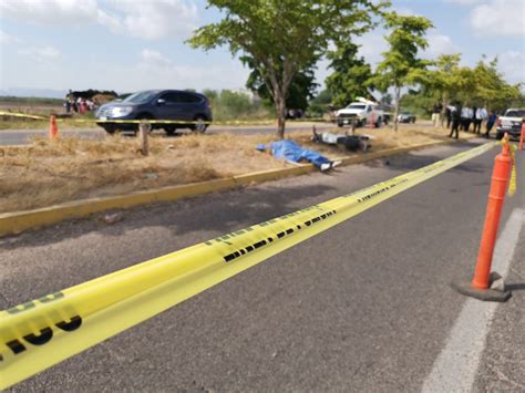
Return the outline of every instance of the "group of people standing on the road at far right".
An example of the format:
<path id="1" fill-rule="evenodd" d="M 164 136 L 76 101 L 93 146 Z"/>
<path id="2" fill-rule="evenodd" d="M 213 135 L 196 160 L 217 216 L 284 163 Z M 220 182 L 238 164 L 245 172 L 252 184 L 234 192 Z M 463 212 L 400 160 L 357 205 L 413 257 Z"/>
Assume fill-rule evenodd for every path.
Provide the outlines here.
<path id="1" fill-rule="evenodd" d="M 491 130 L 496 123 L 497 115 L 494 111 L 487 111 L 485 107 L 470 107 L 462 106 L 461 102 L 455 102 L 453 105 L 445 107 L 446 128 L 451 128 L 449 137 L 457 139 L 460 130 L 472 132 L 474 134 L 482 134 L 483 137 L 488 138 Z M 482 126 L 485 124 L 485 132 L 482 133 Z"/>

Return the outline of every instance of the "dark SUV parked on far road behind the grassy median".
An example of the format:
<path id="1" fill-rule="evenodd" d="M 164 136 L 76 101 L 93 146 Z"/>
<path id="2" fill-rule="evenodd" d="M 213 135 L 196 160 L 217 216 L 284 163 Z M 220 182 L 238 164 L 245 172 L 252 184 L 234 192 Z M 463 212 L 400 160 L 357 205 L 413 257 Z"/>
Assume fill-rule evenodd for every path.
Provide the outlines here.
<path id="1" fill-rule="evenodd" d="M 104 121 L 96 124 L 110 134 L 117 130 L 137 130 L 137 124 L 111 123 L 111 120 L 181 121 L 178 124 L 152 124 L 152 130 L 164 128 L 169 135 L 177 128 L 186 127 L 204 133 L 213 116 L 209 100 L 203 94 L 179 90 L 148 90 L 102 105 L 96 112 L 96 118 Z"/>

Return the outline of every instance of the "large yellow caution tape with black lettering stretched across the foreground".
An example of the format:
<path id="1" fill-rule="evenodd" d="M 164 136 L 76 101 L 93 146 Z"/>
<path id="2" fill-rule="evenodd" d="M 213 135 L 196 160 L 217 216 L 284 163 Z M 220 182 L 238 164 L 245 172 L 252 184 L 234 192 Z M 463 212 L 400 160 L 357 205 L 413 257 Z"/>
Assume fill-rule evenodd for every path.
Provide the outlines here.
<path id="1" fill-rule="evenodd" d="M 290 213 L 0 311 L 6 389 L 478 156 L 488 143 L 359 192 Z"/>

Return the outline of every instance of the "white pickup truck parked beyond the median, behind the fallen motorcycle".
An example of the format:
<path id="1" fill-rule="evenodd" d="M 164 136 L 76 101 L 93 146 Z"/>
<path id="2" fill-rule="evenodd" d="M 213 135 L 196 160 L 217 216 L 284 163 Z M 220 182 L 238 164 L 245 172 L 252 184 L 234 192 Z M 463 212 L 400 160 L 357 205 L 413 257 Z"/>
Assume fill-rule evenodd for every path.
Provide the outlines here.
<path id="1" fill-rule="evenodd" d="M 356 126 L 372 124 L 375 127 L 384 122 L 384 113 L 378 103 L 358 97 L 347 107 L 336 112 L 336 123 L 339 127 L 350 125 L 354 122 Z"/>

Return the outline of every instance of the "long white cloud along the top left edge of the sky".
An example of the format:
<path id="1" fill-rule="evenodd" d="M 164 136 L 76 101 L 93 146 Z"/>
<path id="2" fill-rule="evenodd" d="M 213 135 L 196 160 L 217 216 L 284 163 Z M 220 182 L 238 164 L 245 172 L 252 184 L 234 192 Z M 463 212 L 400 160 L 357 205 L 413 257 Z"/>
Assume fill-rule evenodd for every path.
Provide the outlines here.
<path id="1" fill-rule="evenodd" d="M 104 4 L 104 7 L 102 7 Z M 4 18 L 38 24 L 97 23 L 114 33 L 147 40 L 185 37 L 197 27 L 194 0 L 17 0 L 1 1 Z"/>

